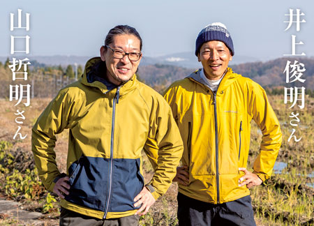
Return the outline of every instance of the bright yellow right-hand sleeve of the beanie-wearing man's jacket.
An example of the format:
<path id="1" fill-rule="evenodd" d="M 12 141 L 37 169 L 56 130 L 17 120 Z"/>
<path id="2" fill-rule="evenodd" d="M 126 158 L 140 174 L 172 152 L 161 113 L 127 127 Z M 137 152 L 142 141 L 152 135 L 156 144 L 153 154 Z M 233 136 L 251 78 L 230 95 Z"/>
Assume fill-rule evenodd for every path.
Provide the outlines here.
<path id="1" fill-rule="evenodd" d="M 281 147 L 281 127 L 262 87 L 253 82 L 250 108 L 254 121 L 262 130 L 260 154 L 255 159 L 255 174 L 264 181 L 271 176 L 279 149 Z"/>

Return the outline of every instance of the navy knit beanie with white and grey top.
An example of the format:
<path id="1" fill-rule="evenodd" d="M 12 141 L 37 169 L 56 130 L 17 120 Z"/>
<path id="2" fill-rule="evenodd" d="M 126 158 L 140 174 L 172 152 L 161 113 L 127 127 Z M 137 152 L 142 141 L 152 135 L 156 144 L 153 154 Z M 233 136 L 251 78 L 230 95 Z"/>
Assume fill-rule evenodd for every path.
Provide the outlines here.
<path id="1" fill-rule="evenodd" d="M 195 55 L 200 52 L 200 47 L 210 41 L 210 40 L 219 40 L 229 48 L 231 55 L 234 55 L 234 47 L 232 43 L 232 38 L 230 36 L 229 31 L 227 31 L 227 27 L 225 24 L 220 22 L 212 23 L 204 27 L 202 31 L 197 36 L 196 45 L 195 45 Z"/>

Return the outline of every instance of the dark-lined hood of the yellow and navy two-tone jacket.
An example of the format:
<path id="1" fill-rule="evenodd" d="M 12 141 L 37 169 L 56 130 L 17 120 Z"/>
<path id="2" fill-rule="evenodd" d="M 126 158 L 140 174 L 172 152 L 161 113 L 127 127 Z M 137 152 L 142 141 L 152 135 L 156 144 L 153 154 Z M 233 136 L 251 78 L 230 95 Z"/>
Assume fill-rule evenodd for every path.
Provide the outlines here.
<path id="1" fill-rule="evenodd" d="M 114 89 L 117 89 L 117 85 L 108 82 L 103 78 L 103 76 L 99 75 L 106 73 L 107 68 L 103 67 L 102 64 L 105 64 L 104 61 L 100 59 L 100 57 L 94 57 L 87 61 L 84 73 L 80 78 L 80 82 L 86 86 L 92 86 L 100 89 L 102 93 L 107 93 Z M 127 82 L 119 85 L 120 88 L 120 96 L 130 92 L 131 90 L 135 89 L 137 86 L 137 79 L 136 75 L 134 74 L 133 77 L 130 78 Z"/>

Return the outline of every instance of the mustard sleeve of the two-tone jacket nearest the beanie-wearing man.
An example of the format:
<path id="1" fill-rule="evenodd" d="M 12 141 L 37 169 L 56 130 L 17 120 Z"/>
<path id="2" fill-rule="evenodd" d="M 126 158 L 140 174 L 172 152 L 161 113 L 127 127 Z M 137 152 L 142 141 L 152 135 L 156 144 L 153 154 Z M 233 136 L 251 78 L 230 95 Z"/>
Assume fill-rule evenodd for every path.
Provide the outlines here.
<path id="1" fill-rule="evenodd" d="M 154 167 L 154 176 L 149 185 L 155 191 L 155 199 L 163 195 L 177 174 L 177 166 L 183 153 L 183 143 L 170 106 L 160 96 L 153 100 L 150 116 L 149 137 L 144 151 Z"/>

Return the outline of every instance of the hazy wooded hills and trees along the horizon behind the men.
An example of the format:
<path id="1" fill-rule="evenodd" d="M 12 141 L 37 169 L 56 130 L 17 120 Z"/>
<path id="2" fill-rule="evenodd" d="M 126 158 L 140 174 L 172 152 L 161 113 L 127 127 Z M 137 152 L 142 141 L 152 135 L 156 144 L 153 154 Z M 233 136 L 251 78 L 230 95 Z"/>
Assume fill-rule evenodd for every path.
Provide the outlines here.
<path id="1" fill-rule="evenodd" d="M 287 61 L 294 60 L 304 63 L 306 71 L 302 78 L 306 82 L 294 82 L 287 84 L 285 83 L 285 66 Z M 2 74 L 6 74 L 0 77 L 0 80 L 7 80 L 6 77 L 10 75 L 10 69 L 8 68 L 9 59 L 6 59 L 4 64 L 0 61 L 0 68 L 4 71 Z M 261 84 L 269 94 L 272 95 L 283 95 L 284 87 L 291 86 L 304 86 L 306 87 L 306 94 L 314 96 L 314 59 L 313 58 L 302 58 L 302 59 L 290 59 L 281 58 L 267 62 L 255 62 L 255 63 L 241 63 L 239 65 L 231 66 L 234 73 L 243 75 L 244 77 L 250 77 L 255 82 Z M 159 93 L 163 93 L 172 82 L 181 80 L 184 77 L 193 73 L 197 68 L 182 68 L 179 66 L 170 66 L 163 64 L 147 65 L 139 67 L 137 77 L 140 81 L 153 87 Z M 59 77 L 59 80 L 66 80 L 67 78 L 73 80 L 75 78 L 75 71 L 73 65 L 68 66 L 47 66 L 37 61 L 31 61 L 31 65 L 27 71 L 29 77 L 32 75 L 40 76 L 44 80 L 49 80 L 51 77 Z M 77 78 L 83 73 L 83 67 L 77 66 Z M 60 78 L 61 77 L 61 78 Z M 63 77 L 63 79 L 62 79 Z"/>

